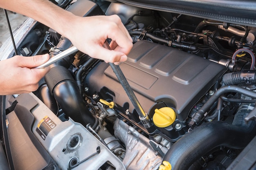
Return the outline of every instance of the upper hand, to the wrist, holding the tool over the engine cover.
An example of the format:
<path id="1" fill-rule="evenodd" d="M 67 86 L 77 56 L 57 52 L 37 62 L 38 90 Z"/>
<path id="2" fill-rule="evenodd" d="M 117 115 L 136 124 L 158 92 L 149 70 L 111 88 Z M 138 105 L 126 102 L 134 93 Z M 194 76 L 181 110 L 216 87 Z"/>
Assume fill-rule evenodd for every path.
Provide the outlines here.
<path id="1" fill-rule="evenodd" d="M 67 26 L 64 36 L 83 53 L 105 62 L 127 60 L 132 38 L 117 15 L 74 17 Z M 111 50 L 103 48 L 107 38 L 112 39 Z"/>

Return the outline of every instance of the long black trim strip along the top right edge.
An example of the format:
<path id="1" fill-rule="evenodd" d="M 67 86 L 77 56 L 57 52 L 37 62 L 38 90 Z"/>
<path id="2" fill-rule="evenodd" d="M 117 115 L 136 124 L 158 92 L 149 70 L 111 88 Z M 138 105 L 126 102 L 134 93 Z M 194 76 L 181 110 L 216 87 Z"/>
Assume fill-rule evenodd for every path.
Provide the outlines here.
<path id="1" fill-rule="evenodd" d="M 118 0 L 137 7 L 182 13 L 247 26 L 256 25 L 255 0 Z"/>

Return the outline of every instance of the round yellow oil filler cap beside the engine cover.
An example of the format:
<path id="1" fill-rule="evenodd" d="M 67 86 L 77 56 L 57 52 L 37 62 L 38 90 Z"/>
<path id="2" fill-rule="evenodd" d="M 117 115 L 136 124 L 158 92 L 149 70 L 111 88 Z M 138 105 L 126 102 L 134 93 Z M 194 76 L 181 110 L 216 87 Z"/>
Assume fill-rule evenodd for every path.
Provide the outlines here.
<path id="1" fill-rule="evenodd" d="M 165 128 L 173 124 L 175 119 L 176 114 L 172 108 L 163 107 L 160 109 L 155 109 L 155 114 L 153 115 L 153 122 L 155 126 Z"/>

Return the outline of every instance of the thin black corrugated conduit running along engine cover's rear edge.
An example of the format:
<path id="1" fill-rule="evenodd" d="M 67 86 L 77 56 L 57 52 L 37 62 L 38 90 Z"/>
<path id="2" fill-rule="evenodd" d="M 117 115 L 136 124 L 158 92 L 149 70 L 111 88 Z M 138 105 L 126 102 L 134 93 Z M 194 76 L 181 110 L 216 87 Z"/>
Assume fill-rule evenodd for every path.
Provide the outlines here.
<path id="1" fill-rule="evenodd" d="M 138 36 L 138 35 L 141 35 L 141 33 L 145 33 L 146 38 L 149 38 L 154 42 L 158 42 L 158 43 L 161 43 L 161 44 L 166 44 L 166 45 L 171 46 L 173 48 L 189 50 L 189 51 L 192 51 L 193 53 L 198 53 L 198 47 L 193 45 L 193 44 L 166 40 L 164 38 L 157 37 L 157 36 L 153 35 L 152 33 L 147 33 L 147 32 L 141 31 L 141 30 L 128 30 L 128 33 L 131 36 L 135 36 L 135 35 Z"/>

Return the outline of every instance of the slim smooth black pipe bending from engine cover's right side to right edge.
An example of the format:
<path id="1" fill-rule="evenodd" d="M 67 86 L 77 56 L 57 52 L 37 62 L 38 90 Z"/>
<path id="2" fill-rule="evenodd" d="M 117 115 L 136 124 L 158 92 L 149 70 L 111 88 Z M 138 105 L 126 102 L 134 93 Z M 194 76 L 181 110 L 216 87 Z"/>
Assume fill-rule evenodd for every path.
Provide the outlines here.
<path id="1" fill-rule="evenodd" d="M 195 125 L 197 125 L 201 121 L 201 119 L 204 117 L 204 113 L 206 113 L 211 108 L 211 106 L 214 104 L 214 102 L 221 95 L 223 95 L 224 93 L 228 93 L 228 92 L 236 92 L 236 93 L 246 95 L 248 97 L 256 98 L 256 92 L 247 90 L 247 89 L 239 87 L 239 86 L 232 85 L 232 86 L 221 87 L 218 89 L 218 91 L 216 91 L 214 93 L 214 95 L 212 95 L 210 97 L 210 99 L 202 106 L 202 108 L 200 108 L 200 110 L 198 110 L 198 112 L 196 112 L 192 116 L 192 119 L 189 122 L 189 127 L 194 128 Z"/>

